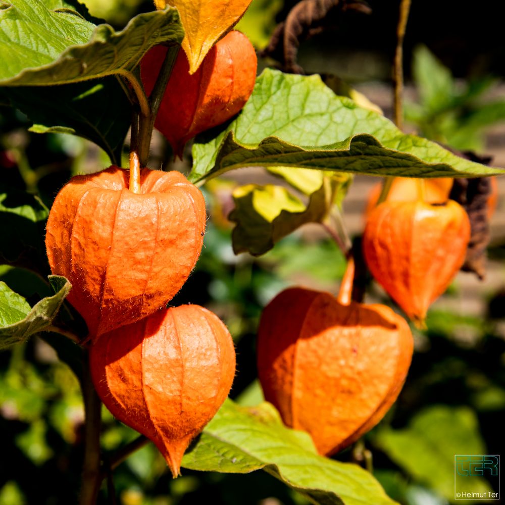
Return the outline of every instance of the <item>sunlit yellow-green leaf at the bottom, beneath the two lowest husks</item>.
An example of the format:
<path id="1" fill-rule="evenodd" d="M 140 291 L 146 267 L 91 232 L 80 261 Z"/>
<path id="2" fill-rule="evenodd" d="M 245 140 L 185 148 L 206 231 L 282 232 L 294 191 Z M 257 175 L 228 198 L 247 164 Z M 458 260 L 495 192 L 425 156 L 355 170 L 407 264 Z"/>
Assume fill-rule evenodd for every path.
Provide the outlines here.
<path id="1" fill-rule="evenodd" d="M 324 505 L 394 503 L 362 468 L 319 456 L 309 435 L 286 428 L 269 403 L 247 408 L 227 400 L 182 466 L 226 473 L 263 469 Z"/>

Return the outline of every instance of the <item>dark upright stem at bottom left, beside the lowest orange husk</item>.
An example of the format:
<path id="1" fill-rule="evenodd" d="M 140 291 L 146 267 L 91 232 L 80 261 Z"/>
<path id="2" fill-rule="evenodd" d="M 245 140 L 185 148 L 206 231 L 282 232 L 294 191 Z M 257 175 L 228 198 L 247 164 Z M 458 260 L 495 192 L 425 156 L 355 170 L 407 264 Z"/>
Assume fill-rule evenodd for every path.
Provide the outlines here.
<path id="1" fill-rule="evenodd" d="M 82 396 L 84 399 L 84 464 L 79 505 L 94 505 L 102 485 L 100 471 L 100 423 L 102 403 L 91 381 L 88 360 L 84 362 Z"/>

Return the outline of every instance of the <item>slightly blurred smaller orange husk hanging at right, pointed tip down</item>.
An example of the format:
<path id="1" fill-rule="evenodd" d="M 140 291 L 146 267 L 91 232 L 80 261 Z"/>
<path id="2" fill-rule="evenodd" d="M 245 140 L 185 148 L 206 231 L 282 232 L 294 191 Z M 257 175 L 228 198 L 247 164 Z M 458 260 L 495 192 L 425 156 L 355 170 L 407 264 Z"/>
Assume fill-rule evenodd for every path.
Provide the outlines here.
<path id="1" fill-rule="evenodd" d="M 370 272 L 417 323 L 465 260 L 470 221 L 459 204 L 385 201 L 368 216 L 363 251 Z"/>

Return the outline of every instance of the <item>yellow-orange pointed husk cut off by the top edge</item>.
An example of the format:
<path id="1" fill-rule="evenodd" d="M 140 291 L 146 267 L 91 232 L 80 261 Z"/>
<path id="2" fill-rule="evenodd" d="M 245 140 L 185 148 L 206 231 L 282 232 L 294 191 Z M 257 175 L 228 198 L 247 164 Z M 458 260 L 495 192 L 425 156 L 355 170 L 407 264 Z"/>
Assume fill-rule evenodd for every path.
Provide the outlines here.
<path id="1" fill-rule="evenodd" d="M 179 11 L 185 31 L 182 48 L 189 73 L 196 72 L 210 48 L 243 16 L 251 0 L 155 0 L 157 9 L 167 4 Z"/>

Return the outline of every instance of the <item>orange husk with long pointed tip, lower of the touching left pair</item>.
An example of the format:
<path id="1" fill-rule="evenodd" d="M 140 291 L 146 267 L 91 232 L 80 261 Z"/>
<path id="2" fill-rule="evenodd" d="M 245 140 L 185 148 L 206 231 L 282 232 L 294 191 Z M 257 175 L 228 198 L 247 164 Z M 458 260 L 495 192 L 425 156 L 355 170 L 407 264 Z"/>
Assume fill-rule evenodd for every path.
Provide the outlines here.
<path id="1" fill-rule="evenodd" d="M 89 364 L 105 406 L 152 440 L 177 477 L 190 441 L 228 396 L 235 350 L 215 314 L 184 305 L 106 333 Z"/>

